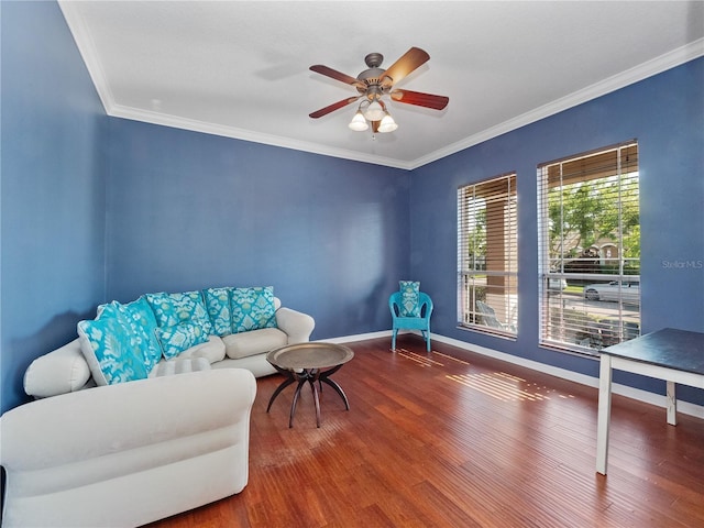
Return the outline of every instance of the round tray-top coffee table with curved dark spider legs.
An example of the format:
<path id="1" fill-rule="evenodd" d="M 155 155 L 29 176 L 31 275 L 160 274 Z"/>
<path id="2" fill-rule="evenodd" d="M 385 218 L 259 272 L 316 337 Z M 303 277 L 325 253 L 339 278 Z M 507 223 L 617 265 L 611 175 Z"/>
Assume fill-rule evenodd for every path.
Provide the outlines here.
<path id="1" fill-rule="evenodd" d="M 294 393 L 294 399 L 290 405 L 290 415 L 288 419 L 288 427 L 294 427 L 294 415 L 296 414 L 296 406 L 298 404 L 298 397 L 300 396 L 300 389 L 306 384 L 310 384 L 312 391 L 314 402 L 316 405 L 316 425 L 320 427 L 320 397 L 318 387 L 322 391 L 322 384 L 330 385 L 336 393 L 340 395 L 344 407 L 350 410 L 350 402 L 348 400 L 344 391 L 340 385 L 330 378 L 332 374 L 338 372 L 342 365 L 354 358 L 352 349 L 342 344 L 314 342 L 314 343 L 297 343 L 288 344 L 276 350 L 272 350 L 266 354 L 266 361 L 268 361 L 274 369 L 286 376 L 286 380 L 274 391 L 266 411 L 272 408 L 272 404 L 276 397 L 288 385 L 298 382 L 296 392 Z M 317 382 L 317 385 L 316 385 Z"/>

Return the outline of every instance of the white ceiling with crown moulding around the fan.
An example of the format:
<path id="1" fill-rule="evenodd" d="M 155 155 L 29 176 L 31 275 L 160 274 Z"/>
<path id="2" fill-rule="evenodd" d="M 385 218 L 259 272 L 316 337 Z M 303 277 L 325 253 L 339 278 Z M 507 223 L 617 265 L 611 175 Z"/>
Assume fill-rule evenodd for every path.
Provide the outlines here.
<path id="1" fill-rule="evenodd" d="M 702 1 L 66 1 L 110 116 L 411 169 L 704 55 Z M 399 128 L 348 129 L 364 56 L 430 61 Z"/>

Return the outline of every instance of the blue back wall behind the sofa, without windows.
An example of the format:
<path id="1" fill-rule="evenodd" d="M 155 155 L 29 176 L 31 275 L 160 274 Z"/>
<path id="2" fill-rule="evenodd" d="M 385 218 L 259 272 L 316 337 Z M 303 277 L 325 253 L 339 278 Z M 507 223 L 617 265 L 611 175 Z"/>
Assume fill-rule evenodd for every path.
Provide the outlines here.
<path id="1" fill-rule="evenodd" d="M 388 330 L 408 172 L 118 119 L 110 144 L 109 298 L 272 285 L 314 339 Z"/>

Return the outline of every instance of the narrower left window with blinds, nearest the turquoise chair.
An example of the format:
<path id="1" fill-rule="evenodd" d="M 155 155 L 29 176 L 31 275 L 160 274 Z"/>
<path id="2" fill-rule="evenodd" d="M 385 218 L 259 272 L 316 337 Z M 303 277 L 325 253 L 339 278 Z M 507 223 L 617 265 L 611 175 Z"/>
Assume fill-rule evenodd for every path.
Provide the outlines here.
<path id="1" fill-rule="evenodd" d="M 516 334 L 516 174 L 458 189 L 460 327 Z"/>

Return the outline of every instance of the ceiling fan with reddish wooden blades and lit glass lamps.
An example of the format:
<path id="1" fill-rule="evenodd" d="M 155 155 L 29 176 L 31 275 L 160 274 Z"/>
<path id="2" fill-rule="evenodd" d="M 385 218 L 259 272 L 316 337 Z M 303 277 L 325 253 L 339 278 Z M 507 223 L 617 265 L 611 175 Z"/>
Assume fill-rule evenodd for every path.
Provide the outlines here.
<path id="1" fill-rule="evenodd" d="M 372 123 L 372 131 L 376 133 L 393 132 L 398 128 L 386 110 L 386 105 L 382 100 L 382 96 L 389 96 L 392 100 L 406 105 L 442 110 L 450 101 L 448 97 L 394 88 L 399 80 L 428 62 L 429 58 L 430 55 L 425 51 L 419 47 L 411 47 L 398 61 L 392 64 L 388 69 L 384 69 L 381 67 L 384 56 L 381 53 L 370 53 L 364 57 L 369 69 L 365 69 L 356 77 L 351 77 L 320 64 L 310 66 L 312 72 L 353 86 L 356 88 L 359 95 L 333 102 L 328 107 L 310 113 L 309 117 L 318 119 L 362 99 L 349 127 L 355 131 L 364 131 L 369 129 L 367 121 L 370 121 Z"/>

